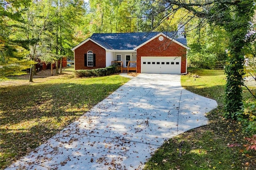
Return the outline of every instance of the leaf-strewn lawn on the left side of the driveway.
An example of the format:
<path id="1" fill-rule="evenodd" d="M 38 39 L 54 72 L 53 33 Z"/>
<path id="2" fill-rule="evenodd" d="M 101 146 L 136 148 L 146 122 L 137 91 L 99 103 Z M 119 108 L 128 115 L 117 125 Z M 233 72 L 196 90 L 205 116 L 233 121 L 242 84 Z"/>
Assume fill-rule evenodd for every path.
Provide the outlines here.
<path id="1" fill-rule="evenodd" d="M 30 152 L 86 113 L 129 79 L 119 75 L 74 79 L 63 75 L 12 77 L 1 82 L 1 169 Z"/>

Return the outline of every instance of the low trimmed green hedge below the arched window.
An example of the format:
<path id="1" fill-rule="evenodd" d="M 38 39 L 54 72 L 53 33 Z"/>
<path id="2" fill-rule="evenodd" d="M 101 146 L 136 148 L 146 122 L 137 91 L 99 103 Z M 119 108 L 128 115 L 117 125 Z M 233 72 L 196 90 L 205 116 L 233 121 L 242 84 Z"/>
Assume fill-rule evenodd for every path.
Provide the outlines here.
<path id="1" fill-rule="evenodd" d="M 75 70 L 75 76 L 76 77 L 92 77 L 92 76 L 105 76 L 114 74 L 117 72 L 116 66 L 109 66 L 106 68 L 100 68 L 100 69 L 91 69 L 91 70 Z"/>

